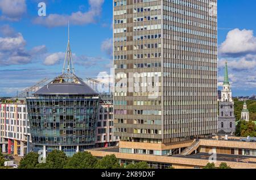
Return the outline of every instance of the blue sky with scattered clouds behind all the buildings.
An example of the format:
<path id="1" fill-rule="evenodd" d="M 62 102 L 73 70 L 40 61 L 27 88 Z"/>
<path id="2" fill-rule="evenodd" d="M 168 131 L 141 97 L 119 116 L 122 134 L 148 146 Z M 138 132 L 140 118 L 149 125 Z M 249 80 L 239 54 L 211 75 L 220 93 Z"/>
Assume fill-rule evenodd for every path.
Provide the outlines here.
<path id="1" fill-rule="evenodd" d="M 255 0 L 218 0 L 218 82 L 226 59 L 233 96 L 256 94 L 255 7 Z M 109 73 L 112 11 L 112 0 L 0 0 L 0 96 L 61 74 L 68 20 L 76 75 Z"/>

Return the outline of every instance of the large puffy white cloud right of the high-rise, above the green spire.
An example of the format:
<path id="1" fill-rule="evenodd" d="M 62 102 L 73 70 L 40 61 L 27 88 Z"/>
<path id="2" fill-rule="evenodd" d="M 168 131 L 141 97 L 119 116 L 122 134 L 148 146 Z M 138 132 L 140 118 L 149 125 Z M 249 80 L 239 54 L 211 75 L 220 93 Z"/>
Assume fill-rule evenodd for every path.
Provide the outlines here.
<path id="1" fill-rule="evenodd" d="M 253 36 L 251 30 L 233 29 L 229 31 L 219 50 L 224 55 L 256 53 L 256 37 Z"/>

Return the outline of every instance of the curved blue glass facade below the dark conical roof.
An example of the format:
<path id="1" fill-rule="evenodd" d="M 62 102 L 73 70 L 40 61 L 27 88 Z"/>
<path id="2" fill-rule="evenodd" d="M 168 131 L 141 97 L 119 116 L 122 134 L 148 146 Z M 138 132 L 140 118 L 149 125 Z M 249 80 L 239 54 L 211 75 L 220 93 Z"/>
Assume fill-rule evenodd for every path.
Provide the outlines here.
<path id="1" fill-rule="evenodd" d="M 63 150 L 67 155 L 94 147 L 97 95 L 38 95 L 27 98 L 34 151 Z"/>

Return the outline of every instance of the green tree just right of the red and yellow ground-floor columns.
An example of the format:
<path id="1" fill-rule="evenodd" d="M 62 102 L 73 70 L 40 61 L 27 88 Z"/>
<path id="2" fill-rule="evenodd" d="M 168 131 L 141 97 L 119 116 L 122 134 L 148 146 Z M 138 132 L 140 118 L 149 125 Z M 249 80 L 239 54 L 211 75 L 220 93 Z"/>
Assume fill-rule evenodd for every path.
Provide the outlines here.
<path id="1" fill-rule="evenodd" d="M 30 152 L 19 162 L 19 169 L 34 169 L 38 162 L 38 153 Z"/>

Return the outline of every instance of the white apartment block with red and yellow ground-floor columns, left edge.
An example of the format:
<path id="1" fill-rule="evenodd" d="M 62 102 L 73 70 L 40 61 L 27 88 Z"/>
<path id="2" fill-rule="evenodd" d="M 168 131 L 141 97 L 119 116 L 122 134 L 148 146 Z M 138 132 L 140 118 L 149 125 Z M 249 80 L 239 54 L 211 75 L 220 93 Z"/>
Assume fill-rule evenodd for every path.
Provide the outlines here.
<path id="1" fill-rule="evenodd" d="M 0 104 L 0 144 L 2 152 L 24 156 L 30 151 L 30 128 L 25 100 Z"/>

